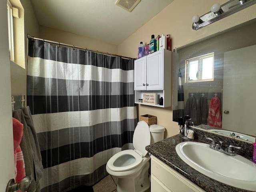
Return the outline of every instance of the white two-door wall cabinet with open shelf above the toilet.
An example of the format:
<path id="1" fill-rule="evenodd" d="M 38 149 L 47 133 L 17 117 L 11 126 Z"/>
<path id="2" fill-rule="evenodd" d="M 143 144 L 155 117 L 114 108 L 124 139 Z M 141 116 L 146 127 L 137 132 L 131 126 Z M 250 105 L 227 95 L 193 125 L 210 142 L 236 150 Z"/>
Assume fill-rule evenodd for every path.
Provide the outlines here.
<path id="1" fill-rule="evenodd" d="M 157 93 L 159 98 L 164 98 L 164 105 L 156 104 L 152 106 L 169 107 L 172 100 L 171 86 L 171 51 L 159 50 L 134 61 L 135 103 L 143 104 L 138 102 L 143 93 Z"/>

